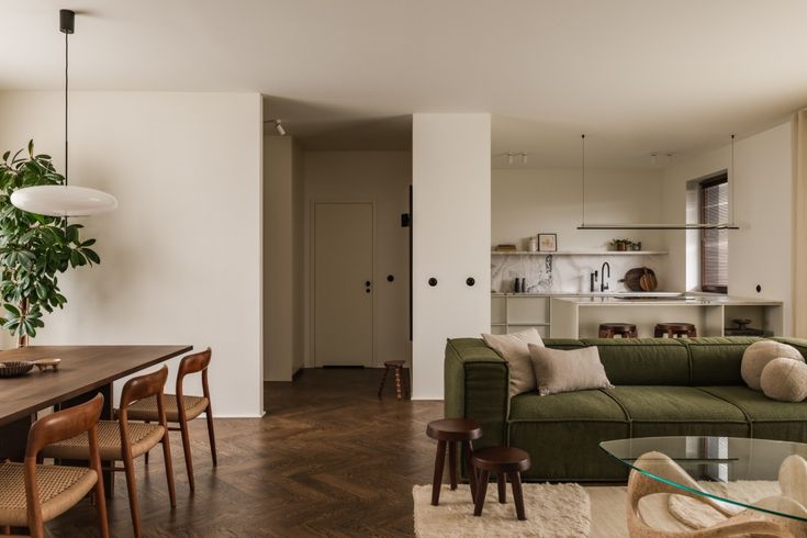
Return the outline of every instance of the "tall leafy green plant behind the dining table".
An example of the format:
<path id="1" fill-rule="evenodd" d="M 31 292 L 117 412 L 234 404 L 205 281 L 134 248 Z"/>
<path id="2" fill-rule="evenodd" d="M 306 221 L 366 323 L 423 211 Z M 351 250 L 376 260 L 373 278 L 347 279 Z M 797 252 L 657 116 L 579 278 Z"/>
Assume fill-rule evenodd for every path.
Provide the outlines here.
<path id="1" fill-rule="evenodd" d="M 36 215 L 11 204 L 11 193 L 23 187 L 64 184 L 49 155 L 35 155 L 34 141 L 27 156 L 19 150 L 0 162 L 0 324 L 16 336 L 18 346 L 45 326 L 44 312 L 64 307 L 67 299 L 59 292 L 58 274 L 71 267 L 100 264 L 90 247 L 96 239 L 81 240 L 80 224 L 67 218 Z M 44 311 L 44 312 L 43 312 Z"/>

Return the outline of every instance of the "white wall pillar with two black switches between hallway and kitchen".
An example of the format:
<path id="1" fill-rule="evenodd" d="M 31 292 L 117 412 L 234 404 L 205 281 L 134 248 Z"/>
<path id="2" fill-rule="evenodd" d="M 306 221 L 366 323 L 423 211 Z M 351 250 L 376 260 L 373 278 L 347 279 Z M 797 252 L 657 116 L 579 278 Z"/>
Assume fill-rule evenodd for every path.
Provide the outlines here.
<path id="1" fill-rule="evenodd" d="M 491 324 L 491 117 L 418 113 L 412 127 L 413 397 L 440 400 L 446 338 Z"/>

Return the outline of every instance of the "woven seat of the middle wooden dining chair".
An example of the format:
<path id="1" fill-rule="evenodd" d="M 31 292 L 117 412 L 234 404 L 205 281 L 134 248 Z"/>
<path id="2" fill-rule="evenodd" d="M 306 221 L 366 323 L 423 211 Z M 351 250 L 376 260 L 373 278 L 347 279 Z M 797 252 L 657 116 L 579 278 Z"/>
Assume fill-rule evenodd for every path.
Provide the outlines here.
<path id="1" fill-rule="evenodd" d="M 159 424 L 128 424 L 128 438 L 132 445 L 132 457 L 136 458 L 154 448 L 165 434 Z M 117 421 L 100 421 L 98 423 L 98 449 L 102 460 L 122 460 L 121 425 Z M 90 447 L 87 435 L 81 434 L 71 439 L 46 447 L 42 455 L 45 458 L 89 459 Z"/>

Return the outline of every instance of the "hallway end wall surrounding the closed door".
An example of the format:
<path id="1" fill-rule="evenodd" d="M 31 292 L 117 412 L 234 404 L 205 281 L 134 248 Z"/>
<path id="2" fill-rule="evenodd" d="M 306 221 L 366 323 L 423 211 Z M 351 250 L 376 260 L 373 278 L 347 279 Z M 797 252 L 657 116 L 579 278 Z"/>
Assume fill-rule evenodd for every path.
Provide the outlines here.
<path id="1" fill-rule="evenodd" d="M 376 205 L 376 366 L 385 360 L 408 360 L 408 228 L 401 214 L 408 212 L 412 183 L 410 152 L 303 152 L 305 177 L 304 304 L 311 304 L 311 209 L 314 202 L 373 202 Z M 388 282 L 386 276 L 394 281 Z M 311 357 L 311 309 L 305 309 L 305 357 Z"/>

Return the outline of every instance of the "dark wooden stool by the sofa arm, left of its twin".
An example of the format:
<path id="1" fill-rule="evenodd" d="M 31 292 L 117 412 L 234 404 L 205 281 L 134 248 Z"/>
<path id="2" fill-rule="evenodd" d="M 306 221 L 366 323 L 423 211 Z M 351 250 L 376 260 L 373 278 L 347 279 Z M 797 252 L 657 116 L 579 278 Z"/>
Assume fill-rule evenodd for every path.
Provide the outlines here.
<path id="1" fill-rule="evenodd" d="M 442 467 L 446 462 L 446 442 L 448 442 L 448 475 L 451 489 L 457 489 L 457 444 L 462 445 L 468 469 L 468 482 L 471 485 L 471 501 L 477 498 L 477 473 L 471 466 L 471 441 L 482 437 L 482 426 L 477 421 L 467 418 L 444 418 L 431 421 L 426 426 L 426 435 L 437 439 L 437 457 L 435 458 L 435 480 L 431 483 L 431 505 L 440 502 L 442 485 Z"/>

